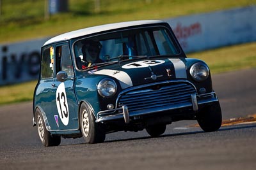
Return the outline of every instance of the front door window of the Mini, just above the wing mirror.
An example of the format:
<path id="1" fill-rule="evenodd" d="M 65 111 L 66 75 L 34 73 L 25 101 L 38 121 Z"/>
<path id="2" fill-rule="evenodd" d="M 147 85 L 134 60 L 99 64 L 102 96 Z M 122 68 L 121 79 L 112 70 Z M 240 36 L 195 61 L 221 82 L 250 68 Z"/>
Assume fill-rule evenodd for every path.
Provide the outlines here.
<path id="1" fill-rule="evenodd" d="M 56 47 L 56 60 L 58 63 L 56 64 L 56 73 L 58 73 L 58 71 L 65 71 L 68 74 L 68 76 L 74 75 L 68 45 Z"/>

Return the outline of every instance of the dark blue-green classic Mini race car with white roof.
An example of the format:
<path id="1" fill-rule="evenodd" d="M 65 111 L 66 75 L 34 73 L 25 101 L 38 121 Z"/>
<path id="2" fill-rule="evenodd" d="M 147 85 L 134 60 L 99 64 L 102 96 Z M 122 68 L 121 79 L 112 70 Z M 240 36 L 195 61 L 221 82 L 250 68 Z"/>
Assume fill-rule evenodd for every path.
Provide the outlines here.
<path id="1" fill-rule="evenodd" d="M 163 21 L 143 20 L 68 32 L 42 46 L 33 124 L 44 146 L 63 138 L 102 143 L 109 132 L 160 136 L 166 125 L 221 126 L 209 67 L 189 59 Z"/>

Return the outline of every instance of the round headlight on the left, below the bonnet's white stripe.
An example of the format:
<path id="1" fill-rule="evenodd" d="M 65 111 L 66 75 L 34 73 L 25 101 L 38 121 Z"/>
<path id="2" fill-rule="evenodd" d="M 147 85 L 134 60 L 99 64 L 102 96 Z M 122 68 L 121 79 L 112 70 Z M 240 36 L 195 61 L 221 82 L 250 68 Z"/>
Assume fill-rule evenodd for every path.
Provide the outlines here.
<path id="1" fill-rule="evenodd" d="M 111 97 L 116 94 L 116 82 L 110 78 L 100 80 L 97 85 L 97 90 L 102 97 Z"/>

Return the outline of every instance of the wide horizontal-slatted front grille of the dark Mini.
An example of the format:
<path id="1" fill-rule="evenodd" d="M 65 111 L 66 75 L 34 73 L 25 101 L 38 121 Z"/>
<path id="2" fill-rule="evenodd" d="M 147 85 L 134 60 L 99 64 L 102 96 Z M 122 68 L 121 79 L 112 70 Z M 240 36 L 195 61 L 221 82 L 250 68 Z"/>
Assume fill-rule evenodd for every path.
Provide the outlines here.
<path id="1" fill-rule="evenodd" d="M 130 90 L 118 97 L 118 107 L 126 105 L 129 111 L 147 110 L 191 102 L 196 90 L 190 83 L 165 83 Z"/>

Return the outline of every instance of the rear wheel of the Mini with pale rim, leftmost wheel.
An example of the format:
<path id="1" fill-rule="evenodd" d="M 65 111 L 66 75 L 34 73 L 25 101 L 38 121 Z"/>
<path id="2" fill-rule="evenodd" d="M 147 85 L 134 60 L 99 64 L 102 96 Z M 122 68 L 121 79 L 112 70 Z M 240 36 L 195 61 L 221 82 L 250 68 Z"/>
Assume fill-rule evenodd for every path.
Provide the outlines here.
<path id="1" fill-rule="evenodd" d="M 45 127 L 44 118 L 40 110 L 36 110 L 36 125 L 38 130 L 38 135 L 44 146 L 58 146 L 60 145 L 60 136 L 54 136 L 47 131 Z"/>

